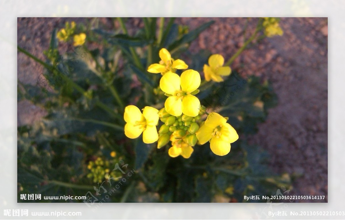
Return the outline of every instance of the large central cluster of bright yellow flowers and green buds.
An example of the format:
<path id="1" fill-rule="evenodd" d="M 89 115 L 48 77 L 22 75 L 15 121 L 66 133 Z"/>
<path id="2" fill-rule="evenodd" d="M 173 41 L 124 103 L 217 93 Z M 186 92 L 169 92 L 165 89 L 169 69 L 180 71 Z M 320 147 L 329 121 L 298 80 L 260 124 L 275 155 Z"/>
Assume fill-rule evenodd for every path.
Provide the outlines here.
<path id="1" fill-rule="evenodd" d="M 179 76 L 177 69 L 187 69 L 187 64 L 180 59 L 174 60 L 165 48 L 159 51 L 161 61 L 151 64 L 148 72 L 161 73 L 159 87 L 167 96 L 164 108 L 153 107 L 140 109 L 136 106 L 125 108 L 125 134 L 129 138 L 137 138 L 142 133 L 145 143 L 158 141 L 157 148 L 166 146 L 171 141 L 169 156 L 189 158 L 195 145 L 210 142 L 211 151 L 224 156 L 230 151 L 230 143 L 238 139 L 236 130 L 216 112 L 208 114 L 205 121 L 206 108 L 200 105 L 195 96 L 199 92 L 200 74 L 195 70 L 185 70 Z M 223 81 L 221 76 L 228 76 L 230 67 L 223 67 L 224 58 L 214 54 L 209 58 L 209 66 L 205 64 L 206 81 Z M 205 117 L 204 117 L 205 116 Z M 157 132 L 159 120 L 163 123 Z"/>

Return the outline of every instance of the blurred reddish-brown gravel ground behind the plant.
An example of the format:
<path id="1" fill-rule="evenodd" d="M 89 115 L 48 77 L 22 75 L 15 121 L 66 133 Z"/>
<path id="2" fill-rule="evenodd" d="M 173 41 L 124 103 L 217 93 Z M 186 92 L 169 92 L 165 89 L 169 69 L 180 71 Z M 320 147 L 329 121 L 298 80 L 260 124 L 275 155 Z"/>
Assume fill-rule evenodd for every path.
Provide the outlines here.
<path id="1" fill-rule="evenodd" d="M 83 18 L 18 18 L 18 45 L 43 59 L 53 28 L 66 21 Z M 220 53 L 229 59 L 254 31 L 256 19 L 178 18 L 176 22 L 194 29 L 203 22 L 215 23 L 195 40 L 190 50 Z M 118 27 L 108 18 L 100 19 L 108 28 Z M 320 195 L 327 199 L 327 18 L 282 18 L 282 37 L 253 42 L 231 65 L 244 74 L 255 74 L 273 83 L 279 105 L 269 110 L 259 132 L 250 143 L 263 146 L 271 155 L 270 166 L 277 172 L 300 174 L 289 195 Z M 129 32 L 141 27 L 139 19 L 129 19 Z M 62 51 L 66 51 L 66 48 Z M 18 80 L 35 84 L 43 68 L 18 53 Z M 28 102 L 18 103 L 18 125 L 32 123 L 44 111 Z M 318 202 L 303 200 L 304 202 Z"/>

